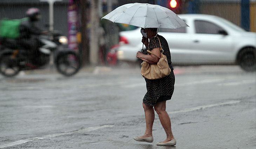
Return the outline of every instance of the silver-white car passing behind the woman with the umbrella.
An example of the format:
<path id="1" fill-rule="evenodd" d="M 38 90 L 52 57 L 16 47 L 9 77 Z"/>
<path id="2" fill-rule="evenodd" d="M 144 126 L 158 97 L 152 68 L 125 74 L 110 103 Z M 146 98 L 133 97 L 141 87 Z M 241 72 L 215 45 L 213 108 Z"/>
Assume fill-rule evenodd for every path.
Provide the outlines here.
<path id="1" fill-rule="evenodd" d="M 214 15 L 178 15 L 190 27 L 159 29 L 168 41 L 173 65 L 240 65 L 256 71 L 256 33 Z M 141 28 L 120 32 L 119 61 L 137 61 L 142 49 Z"/>

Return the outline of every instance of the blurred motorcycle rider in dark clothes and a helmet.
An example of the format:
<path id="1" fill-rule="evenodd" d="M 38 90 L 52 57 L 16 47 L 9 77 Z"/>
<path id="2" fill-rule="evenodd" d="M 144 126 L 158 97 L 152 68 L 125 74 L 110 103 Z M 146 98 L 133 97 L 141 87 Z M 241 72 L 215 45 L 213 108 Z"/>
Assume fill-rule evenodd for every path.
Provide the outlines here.
<path id="1" fill-rule="evenodd" d="M 32 60 L 36 60 L 39 49 L 38 35 L 46 34 L 47 31 L 36 27 L 35 23 L 41 20 L 40 10 L 38 8 L 29 8 L 26 11 L 28 19 L 21 22 L 19 27 L 19 43 L 23 48 L 28 50 Z"/>

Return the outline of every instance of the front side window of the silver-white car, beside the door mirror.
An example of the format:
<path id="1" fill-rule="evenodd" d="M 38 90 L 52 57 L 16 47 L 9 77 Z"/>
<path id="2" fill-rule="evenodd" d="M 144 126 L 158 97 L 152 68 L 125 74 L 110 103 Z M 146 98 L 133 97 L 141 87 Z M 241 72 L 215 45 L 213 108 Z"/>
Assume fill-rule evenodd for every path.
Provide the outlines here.
<path id="1" fill-rule="evenodd" d="M 195 20 L 195 27 L 197 34 L 219 34 L 219 31 L 224 30 L 214 23 L 202 20 Z"/>

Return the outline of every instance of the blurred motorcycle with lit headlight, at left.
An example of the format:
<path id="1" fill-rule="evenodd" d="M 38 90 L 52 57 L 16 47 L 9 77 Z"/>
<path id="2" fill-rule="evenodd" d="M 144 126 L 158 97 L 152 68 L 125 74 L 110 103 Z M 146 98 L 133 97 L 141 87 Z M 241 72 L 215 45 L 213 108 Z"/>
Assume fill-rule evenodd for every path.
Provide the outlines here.
<path id="1" fill-rule="evenodd" d="M 41 69 L 49 64 L 52 54 L 60 74 L 72 76 L 81 68 L 80 57 L 74 50 L 66 47 L 67 38 L 58 31 L 39 35 L 38 42 L 39 50 L 36 51 L 35 59 L 16 40 L 0 39 L 0 73 L 12 77 L 21 70 Z"/>

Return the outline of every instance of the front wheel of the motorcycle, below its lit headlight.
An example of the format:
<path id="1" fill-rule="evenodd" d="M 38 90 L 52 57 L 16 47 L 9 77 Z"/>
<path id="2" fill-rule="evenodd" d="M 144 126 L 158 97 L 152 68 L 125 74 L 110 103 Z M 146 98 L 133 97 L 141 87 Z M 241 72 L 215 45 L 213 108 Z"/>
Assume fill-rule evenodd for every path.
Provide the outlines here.
<path id="1" fill-rule="evenodd" d="M 58 54 L 55 63 L 58 72 L 65 76 L 72 76 L 81 68 L 81 60 L 73 51 Z"/>

